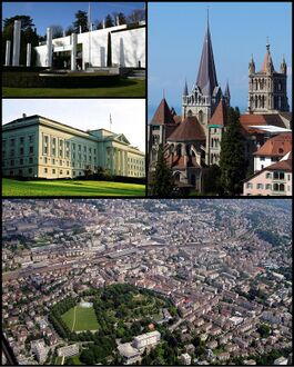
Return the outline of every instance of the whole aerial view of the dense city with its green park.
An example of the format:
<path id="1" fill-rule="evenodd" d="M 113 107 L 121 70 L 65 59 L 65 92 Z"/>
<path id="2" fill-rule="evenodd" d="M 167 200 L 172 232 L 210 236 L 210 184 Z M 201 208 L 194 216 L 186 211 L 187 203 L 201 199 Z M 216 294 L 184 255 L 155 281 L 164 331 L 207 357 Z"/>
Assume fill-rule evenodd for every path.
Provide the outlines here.
<path id="1" fill-rule="evenodd" d="M 287 199 L 7 199 L 19 364 L 292 365 Z"/>

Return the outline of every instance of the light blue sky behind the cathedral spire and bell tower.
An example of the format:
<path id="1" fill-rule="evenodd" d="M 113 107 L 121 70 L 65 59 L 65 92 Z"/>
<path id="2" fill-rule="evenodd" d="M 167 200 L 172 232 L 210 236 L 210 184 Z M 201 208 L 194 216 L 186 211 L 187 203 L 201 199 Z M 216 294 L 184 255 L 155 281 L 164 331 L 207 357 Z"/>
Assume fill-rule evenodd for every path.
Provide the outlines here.
<path id="1" fill-rule="evenodd" d="M 249 61 L 253 53 L 261 69 L 267 37 L 276 71 L 285 56 L 291 105 L 291 2 L 153 2 L 148 7 L 149 120 L 163 89 L 170 107 L 181 115 L 184 80 L 191 90 L 197 75 L 207 7 L 217 81 L 224 89 L 229 79 L 231 105 L 246 108 Z"/>

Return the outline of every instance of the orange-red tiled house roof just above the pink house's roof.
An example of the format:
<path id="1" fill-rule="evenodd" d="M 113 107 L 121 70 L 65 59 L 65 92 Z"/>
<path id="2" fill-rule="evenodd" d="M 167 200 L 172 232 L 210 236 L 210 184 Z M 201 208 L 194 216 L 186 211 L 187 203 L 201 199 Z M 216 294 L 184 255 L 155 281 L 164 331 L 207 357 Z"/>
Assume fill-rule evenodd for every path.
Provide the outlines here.
<path id="1" fill-rule="evenodd" d="M 283 132 L 268 139 L 255 156 L 284 157 L 292 149 L 292 132 Z"/>

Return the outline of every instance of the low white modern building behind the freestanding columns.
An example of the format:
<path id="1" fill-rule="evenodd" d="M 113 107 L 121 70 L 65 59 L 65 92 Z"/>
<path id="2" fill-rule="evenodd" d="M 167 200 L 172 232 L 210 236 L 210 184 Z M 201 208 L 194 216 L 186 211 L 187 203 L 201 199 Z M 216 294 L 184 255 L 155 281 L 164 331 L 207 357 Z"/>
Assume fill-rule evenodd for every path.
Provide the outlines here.
<path id="1" fill-rule="evenodd" d="M 37 66 L 51 67 L 52 60 L 54 62 L 61 53 L 68 52 L 71 54 L 71 70 L 85 69 L 89 66 L 104 68 L 108 65 L 109 42 L 112 66 L 145 68 L 144 21 L 135 28 L 122 24 L 55 39 L 52 39 L 49 28 L 47 42 L 36 47 Z"/>

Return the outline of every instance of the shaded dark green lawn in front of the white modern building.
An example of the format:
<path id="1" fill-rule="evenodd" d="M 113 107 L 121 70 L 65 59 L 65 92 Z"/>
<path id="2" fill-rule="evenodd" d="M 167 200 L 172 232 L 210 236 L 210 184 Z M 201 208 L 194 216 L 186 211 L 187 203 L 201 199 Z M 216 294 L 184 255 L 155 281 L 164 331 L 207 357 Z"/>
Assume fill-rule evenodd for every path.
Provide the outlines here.
<path id="1" fill-rule="evenodd" d="M 141 97 L 145 80 L 122 79 L 118 86 L 101 88 L 2 88 L 2 97 Z"/>

